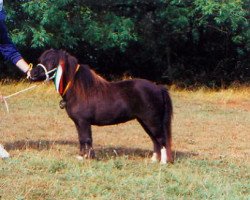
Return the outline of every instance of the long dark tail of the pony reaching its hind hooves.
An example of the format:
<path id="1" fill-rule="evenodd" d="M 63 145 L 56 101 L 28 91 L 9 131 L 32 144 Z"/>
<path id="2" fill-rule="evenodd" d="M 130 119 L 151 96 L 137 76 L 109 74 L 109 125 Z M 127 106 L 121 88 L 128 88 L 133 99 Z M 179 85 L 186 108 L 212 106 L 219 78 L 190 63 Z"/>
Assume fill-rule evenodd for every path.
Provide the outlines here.
<path id="1" fill-rule="evenodd" d="M 163 95 L 163 101 L 164 101 L 164 118 L 163 118 L 163 130 L 166 134 L 166 149 L 167 149 L 167 161 L 173 163 L 173 157 L 172 157 L 172 116 L 173 116 L 173 105 L 172 100 L 170 98 L 170 95 L 168 93 L 168 90 L 164 87 L 162 89 L 162 95 Z"/>

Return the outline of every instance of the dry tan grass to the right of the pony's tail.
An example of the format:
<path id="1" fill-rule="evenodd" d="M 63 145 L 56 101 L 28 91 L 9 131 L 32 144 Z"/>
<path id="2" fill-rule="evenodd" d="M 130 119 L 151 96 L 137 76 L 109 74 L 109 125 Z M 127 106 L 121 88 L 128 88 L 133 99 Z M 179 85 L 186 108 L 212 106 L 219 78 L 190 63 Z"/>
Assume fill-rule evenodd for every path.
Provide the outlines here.
<path id="1" fill-rule="evenodd" d="M 186 137 L 202 156 L 249 159 L 250 88 L 174 90 L 173 97 L 176 140 Z"/>

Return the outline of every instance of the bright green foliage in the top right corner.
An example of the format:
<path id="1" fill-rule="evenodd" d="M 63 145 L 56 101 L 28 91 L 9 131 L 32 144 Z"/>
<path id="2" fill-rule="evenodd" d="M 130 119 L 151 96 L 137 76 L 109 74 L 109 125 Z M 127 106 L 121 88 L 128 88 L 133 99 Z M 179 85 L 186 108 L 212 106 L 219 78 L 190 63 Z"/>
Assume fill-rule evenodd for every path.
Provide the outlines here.
<path id="1" fill-rule="evenodd" d="M 249 3 L 249 2 L 248 2 Z M 247 1 L 194 1 L 195 12 L 200 15 L 196 22 L 208 29 L 220 31 L 231 37 L 231 41 L 244 48 L 249 46 L 249 10 Z M 246 7 L 246 8 L 245 8 Z M 246 46 L 245 46 L 246 45 Z"/>

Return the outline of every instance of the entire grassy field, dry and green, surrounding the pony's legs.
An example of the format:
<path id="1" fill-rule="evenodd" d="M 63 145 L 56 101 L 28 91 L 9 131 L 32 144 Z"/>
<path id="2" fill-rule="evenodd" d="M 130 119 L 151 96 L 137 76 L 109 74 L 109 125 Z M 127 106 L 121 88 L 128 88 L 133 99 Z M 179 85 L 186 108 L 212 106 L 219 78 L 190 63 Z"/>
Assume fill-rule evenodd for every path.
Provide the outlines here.
<path id="1" fill-rule="evenodd" d="M 30 85 L 1 84 L 9 95 Z M 136 121 L 93 127 L 96 160 L 78 161 L 77 134 L 53 85 L 0 104 L 0 199 L 250 199 L 250 88 L 170 90 L 173 165 L 150 163 Z"/>

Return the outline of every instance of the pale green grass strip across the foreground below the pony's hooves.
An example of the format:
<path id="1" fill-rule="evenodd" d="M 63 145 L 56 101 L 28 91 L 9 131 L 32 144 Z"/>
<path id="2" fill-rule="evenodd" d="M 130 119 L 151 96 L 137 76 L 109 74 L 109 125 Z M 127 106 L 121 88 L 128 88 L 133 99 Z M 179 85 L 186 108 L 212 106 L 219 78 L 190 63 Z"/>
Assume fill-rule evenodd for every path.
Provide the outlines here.
<path id="1" fill-rule="evenodd" d="M 1 163 L 0 192 L 3 199 L 247 199 L 247 170 L 223 159 L 161 166 L 126 157 L 81 163 L 24 152 Z"/>

